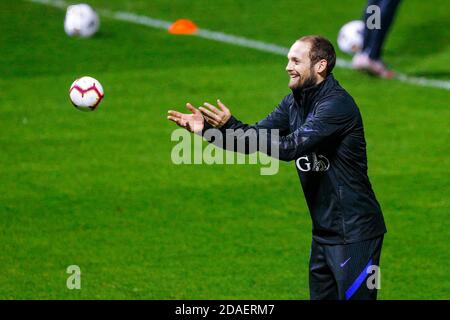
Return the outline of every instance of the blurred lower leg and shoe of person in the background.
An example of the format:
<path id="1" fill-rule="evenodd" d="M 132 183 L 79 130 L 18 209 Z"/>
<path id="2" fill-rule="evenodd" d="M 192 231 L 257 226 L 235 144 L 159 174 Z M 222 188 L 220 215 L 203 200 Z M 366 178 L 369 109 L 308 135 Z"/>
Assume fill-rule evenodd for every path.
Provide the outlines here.
<path id="1" fill-rule="evenodd" d="M 395 73 L 389 70 L 381 60 L 383 43 L 389 31 L 395 12 L 397 11 L 400 0 L 369 0 L 367 9 L 371 6 L 380 8 L 380 29 L 369 29 L 367 20 L 371 12 L 366 9 L 364 12 L 364 43 L 361 52 L 355 54 L 352 63 L 353 66 L 362 71 L 367 71 L 381 78 L 392 78 Z"/>

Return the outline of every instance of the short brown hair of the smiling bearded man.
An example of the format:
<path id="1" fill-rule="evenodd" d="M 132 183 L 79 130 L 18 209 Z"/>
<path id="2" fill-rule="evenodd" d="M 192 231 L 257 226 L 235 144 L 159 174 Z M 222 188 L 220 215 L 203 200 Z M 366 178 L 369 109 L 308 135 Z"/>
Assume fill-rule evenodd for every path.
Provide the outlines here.
<path id="1" fill-rule="evenodd" d="M 327 75 L 329 75 L 336 65 L 336 51 L 334 51 L 333 44 L 322 36 L 304 36 L 297 41 L 309 42 L 311 49 L 309 50 L 309 59 L 311 66 L 315 65 L 322 59 L 327 61 Z"/>

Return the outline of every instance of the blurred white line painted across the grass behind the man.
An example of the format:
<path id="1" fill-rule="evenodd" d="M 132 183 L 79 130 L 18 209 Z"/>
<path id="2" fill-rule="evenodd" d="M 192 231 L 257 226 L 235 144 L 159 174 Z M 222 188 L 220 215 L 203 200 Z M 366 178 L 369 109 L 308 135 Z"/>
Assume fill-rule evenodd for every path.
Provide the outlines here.
<path id="1" fill-rule="evenodd" d="M 52 6 L 59 9 L 66 9 L 68 4 L 62 0 L 27 0 L 33 3 L 44 4 Z M 144 25 L 151 28 L 167 30 L 172 22 L 166 20 L 155 19 L 147 16 L 137 15 L 131 12 L 124 11 L 109 11 L 109 10 L 99 10 L 101 16 L 125 21 L 133 24 Z M 229 43 L 235 46 L 251 48 L 259 51 L 274 53 L 285 56 L 289 51 L 289 48 L 281 47 L 276 44 L 271 44 L 263 41 L 252 40 L 244 37 L 234 36 L 222 32 L 211 31 L 207 29 L 198 29 L 195 36 L 200 38 L 205 38 L 209 40 L 214 40 L 223 43 Z M 338 58 L 336 61 L 336 66 L 345 69 L 353 69 L 351 61 Z M 397 73 L 395 77 L 398 81 L 414 84 L 422 87 L 434 87 L 450 90 L 450 81 L 428 79 L 421 77 L 411 77 L 406 74 Z"/>

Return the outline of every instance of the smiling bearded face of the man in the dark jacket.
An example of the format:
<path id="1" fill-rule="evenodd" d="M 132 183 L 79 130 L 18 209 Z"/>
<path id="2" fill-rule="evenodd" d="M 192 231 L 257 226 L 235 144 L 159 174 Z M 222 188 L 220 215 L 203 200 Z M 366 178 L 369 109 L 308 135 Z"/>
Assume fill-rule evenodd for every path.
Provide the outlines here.
<path id="1" fill-rule="evenodd" d="M 318 81 L 309 59 L 310 47 L 309 42 L 296 41 L 289 49 L 286 71 L 289 74 L 290 89 L 310 87 Z"/>

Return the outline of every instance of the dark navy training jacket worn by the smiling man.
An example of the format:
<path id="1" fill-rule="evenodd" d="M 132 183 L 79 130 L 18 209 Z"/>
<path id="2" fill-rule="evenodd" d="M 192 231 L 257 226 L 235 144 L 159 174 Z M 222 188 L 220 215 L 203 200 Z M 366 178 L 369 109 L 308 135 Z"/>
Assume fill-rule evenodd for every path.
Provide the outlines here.
<path id="1" fill-rule="evenodd" d="M 205 122 L 204 131 L 209 128 Z M 295 161 L 317 242 L 352 243 L 386 232 L 367 176 L 361 114 L 332 74 L 314 87 L 293 90 L 256 124 L 247 125 L 231 117 L 220 131 L 225 134 L 227 129 L 242 130 L 242 134 L 232 136 L 234 151 L 239 140 L 251 141 L 253 135 L 258 142 L 267 139 L 269 143 L 264 148 L 259 143 L 258 150 L 247 143 L 242 152 L 262 151 L 280 160 Z M 278 129 L 279 137 L 274 140 L 270 130 L 261 129 Z M 229 134 L 225 137 L 230 139 Z M 272 154 L 270 141 L 277 144 L 278 155 Z"/>

